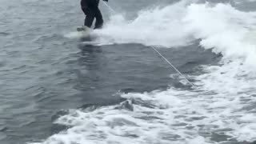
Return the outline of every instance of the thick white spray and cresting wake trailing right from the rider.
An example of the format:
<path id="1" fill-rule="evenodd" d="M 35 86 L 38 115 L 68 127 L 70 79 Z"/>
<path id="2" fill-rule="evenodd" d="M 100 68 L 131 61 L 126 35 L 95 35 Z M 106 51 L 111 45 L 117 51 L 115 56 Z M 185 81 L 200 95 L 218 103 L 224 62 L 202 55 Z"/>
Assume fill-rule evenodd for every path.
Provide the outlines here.
<path id="1" fill-rule="evenodd" d="M 182 1 L 164 8 L 142 10 L 132 21 L 114 15 L 96 33 L 104 36 L 98 38 L 102 45 L 112 42 L 172 47 L 202 39 L 201 45 L 206 49 L 214 48 L 215 53 L 222 53 L 225 58 L 244 58 L 245 63 L 254 66 L 255 23 L 254 12 L 242 12 L 226 4 L 187 6 Z"/>

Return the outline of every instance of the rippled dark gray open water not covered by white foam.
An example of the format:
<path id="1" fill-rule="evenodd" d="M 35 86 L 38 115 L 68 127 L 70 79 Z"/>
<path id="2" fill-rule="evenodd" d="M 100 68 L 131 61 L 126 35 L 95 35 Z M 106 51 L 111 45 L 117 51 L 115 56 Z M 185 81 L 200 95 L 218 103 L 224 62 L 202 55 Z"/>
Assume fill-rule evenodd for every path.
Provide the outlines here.
<path id="1" fill-rule="evenodd" d="M 171 3 L 110 2 L 130 19 L 138 16 L 138 10 Z M 109 11 L 102 5 L 101 9 L 108 22 Z M 0 11 L 2 144 L 46 139 L 63 130 L 53 124 L 58 112 L 86 105 L 117 105 L 125 101 L 120 92 L 143 93 L 171 86 L 190 90 L 190 86 L 170 78 L 176 71 L 150 46 L 88 46 L 80 39 L 65 38 L 63 35 L 83 23 L 78 1 L 2 0 Z M 222 58 L 221 54 L 204 50 L 198 42 L 159 51 L 184 74 L 201 74 L 194 68 L 218 65 Z"/>

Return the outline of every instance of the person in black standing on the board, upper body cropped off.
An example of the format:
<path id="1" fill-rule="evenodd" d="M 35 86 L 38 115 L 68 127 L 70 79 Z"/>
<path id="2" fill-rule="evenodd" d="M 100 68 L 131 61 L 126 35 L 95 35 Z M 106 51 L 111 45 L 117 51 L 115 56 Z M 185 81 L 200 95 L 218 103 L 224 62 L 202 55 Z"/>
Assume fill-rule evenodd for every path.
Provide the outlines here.
<path id="1" fill-rule="evenodd" d="M 98 9 L 98 3 L 100 0 L 81 0 L 81 7 L 84 14 L 86 14 L 86 19 L 84 26 L 91 27 L 94 18 L 96 18 L 94 29 L 100 29 L 103 26 L 102 13 Z M 103 0 L 108 2 L 108 0 Z"/>

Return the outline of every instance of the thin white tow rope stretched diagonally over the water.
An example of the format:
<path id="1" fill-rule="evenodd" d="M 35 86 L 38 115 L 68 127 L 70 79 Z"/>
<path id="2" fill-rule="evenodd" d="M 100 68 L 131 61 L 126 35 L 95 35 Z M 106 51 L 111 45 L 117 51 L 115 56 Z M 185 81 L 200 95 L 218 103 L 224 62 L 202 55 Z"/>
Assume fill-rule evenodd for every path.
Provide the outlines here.
<path id="1" fill-rule="evenodd" d="M 116 13 L 116 11 L 114 9 L 112 9 L 106 2 L 102 1 L 105 6 L 107 6 L 112 12 Z M 190 82 L 190 80 L 188 78 L 186 78 L 186 76 L 184 74 L 182 74 L 166 57 L 164 57 L 154 46 L 150 46 L 155 52 L 157 52 L 172 68 L 174 68 L 174 70 L 177 71 L 178 74 L 180 74 L 182 76 L 182 78 L 184 78 L 186 80 L 186 82 L 188 82 L 192 87 L 195 87 L 194 84 L 192 82 Z"/>

